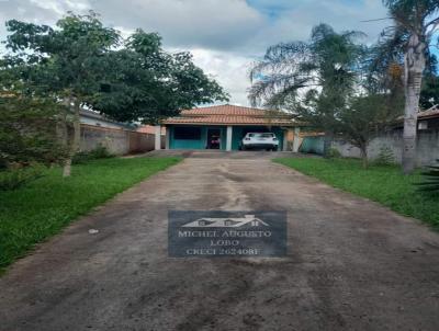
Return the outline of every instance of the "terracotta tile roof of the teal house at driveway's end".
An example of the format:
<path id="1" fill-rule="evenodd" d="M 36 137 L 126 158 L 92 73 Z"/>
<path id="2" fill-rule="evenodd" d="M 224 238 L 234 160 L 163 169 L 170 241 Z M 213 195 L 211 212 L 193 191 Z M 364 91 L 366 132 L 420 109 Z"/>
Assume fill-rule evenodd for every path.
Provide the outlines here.
<path id="1" fill-rule="evenodd" d="M 185 110 L 180 116 L 162 121 L 162 124 L 293 126 L 295 122 L 285 113 L 225 104 Z"/>

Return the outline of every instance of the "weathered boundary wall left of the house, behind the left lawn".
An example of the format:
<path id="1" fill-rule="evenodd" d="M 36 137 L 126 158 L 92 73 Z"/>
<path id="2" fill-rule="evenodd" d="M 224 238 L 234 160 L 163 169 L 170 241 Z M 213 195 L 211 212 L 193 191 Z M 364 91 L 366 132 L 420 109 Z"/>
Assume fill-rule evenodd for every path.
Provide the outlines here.
<path id="1" fill-rule="evenodd" d="M 154 141 L 155 137 L 150 134 L 81 124 L 80 149 L 85 151 L 102 145 L 119 156 L 145 152 L 154 149 Z M 161 142 L 165 148 L 165 137 Z"/>

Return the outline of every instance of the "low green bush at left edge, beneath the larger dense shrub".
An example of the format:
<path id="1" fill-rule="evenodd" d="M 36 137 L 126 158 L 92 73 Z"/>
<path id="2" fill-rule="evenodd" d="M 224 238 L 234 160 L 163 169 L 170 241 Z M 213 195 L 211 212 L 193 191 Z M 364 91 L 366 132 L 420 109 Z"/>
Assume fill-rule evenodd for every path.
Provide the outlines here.
<path id="1" fill-rule="evenodd" d="M 44 167 L 36 164 L 0 171 L 0 191 L 16 190 L 43 176 L 43 171 Z"/>

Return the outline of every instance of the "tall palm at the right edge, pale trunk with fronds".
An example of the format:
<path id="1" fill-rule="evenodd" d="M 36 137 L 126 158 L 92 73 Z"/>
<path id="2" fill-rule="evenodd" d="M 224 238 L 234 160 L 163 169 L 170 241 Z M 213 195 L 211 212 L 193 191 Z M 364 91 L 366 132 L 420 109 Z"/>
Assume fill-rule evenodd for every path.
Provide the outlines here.
<path id="1" fill-rule="evenodd" d="M 382 43 L 384 54 L 404 54 L 404 147 L 403 171 L 410 173 L 416 166 L 416 123 L 423 75 L 429 45 L 439 26 L 437 0 L 383 0 L 395 26 L 387 28 Z"/>

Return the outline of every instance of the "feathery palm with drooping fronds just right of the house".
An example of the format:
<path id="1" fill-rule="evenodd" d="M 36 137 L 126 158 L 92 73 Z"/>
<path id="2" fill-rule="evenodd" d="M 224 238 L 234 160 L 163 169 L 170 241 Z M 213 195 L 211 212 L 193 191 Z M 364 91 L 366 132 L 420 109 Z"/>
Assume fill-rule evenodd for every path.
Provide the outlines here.
<path id="1" fill-rule="evenodd" d="M 290 110 L 325 132 L 327 156 L 337 114 L 353 93 L 354 71 L 362 52 L 354 39 L 360 35 L 351 31 L 338 34 L 329 25 L 319 24 L 308 42 L 269 47 L 250 71 L 250 102 Z"/>

